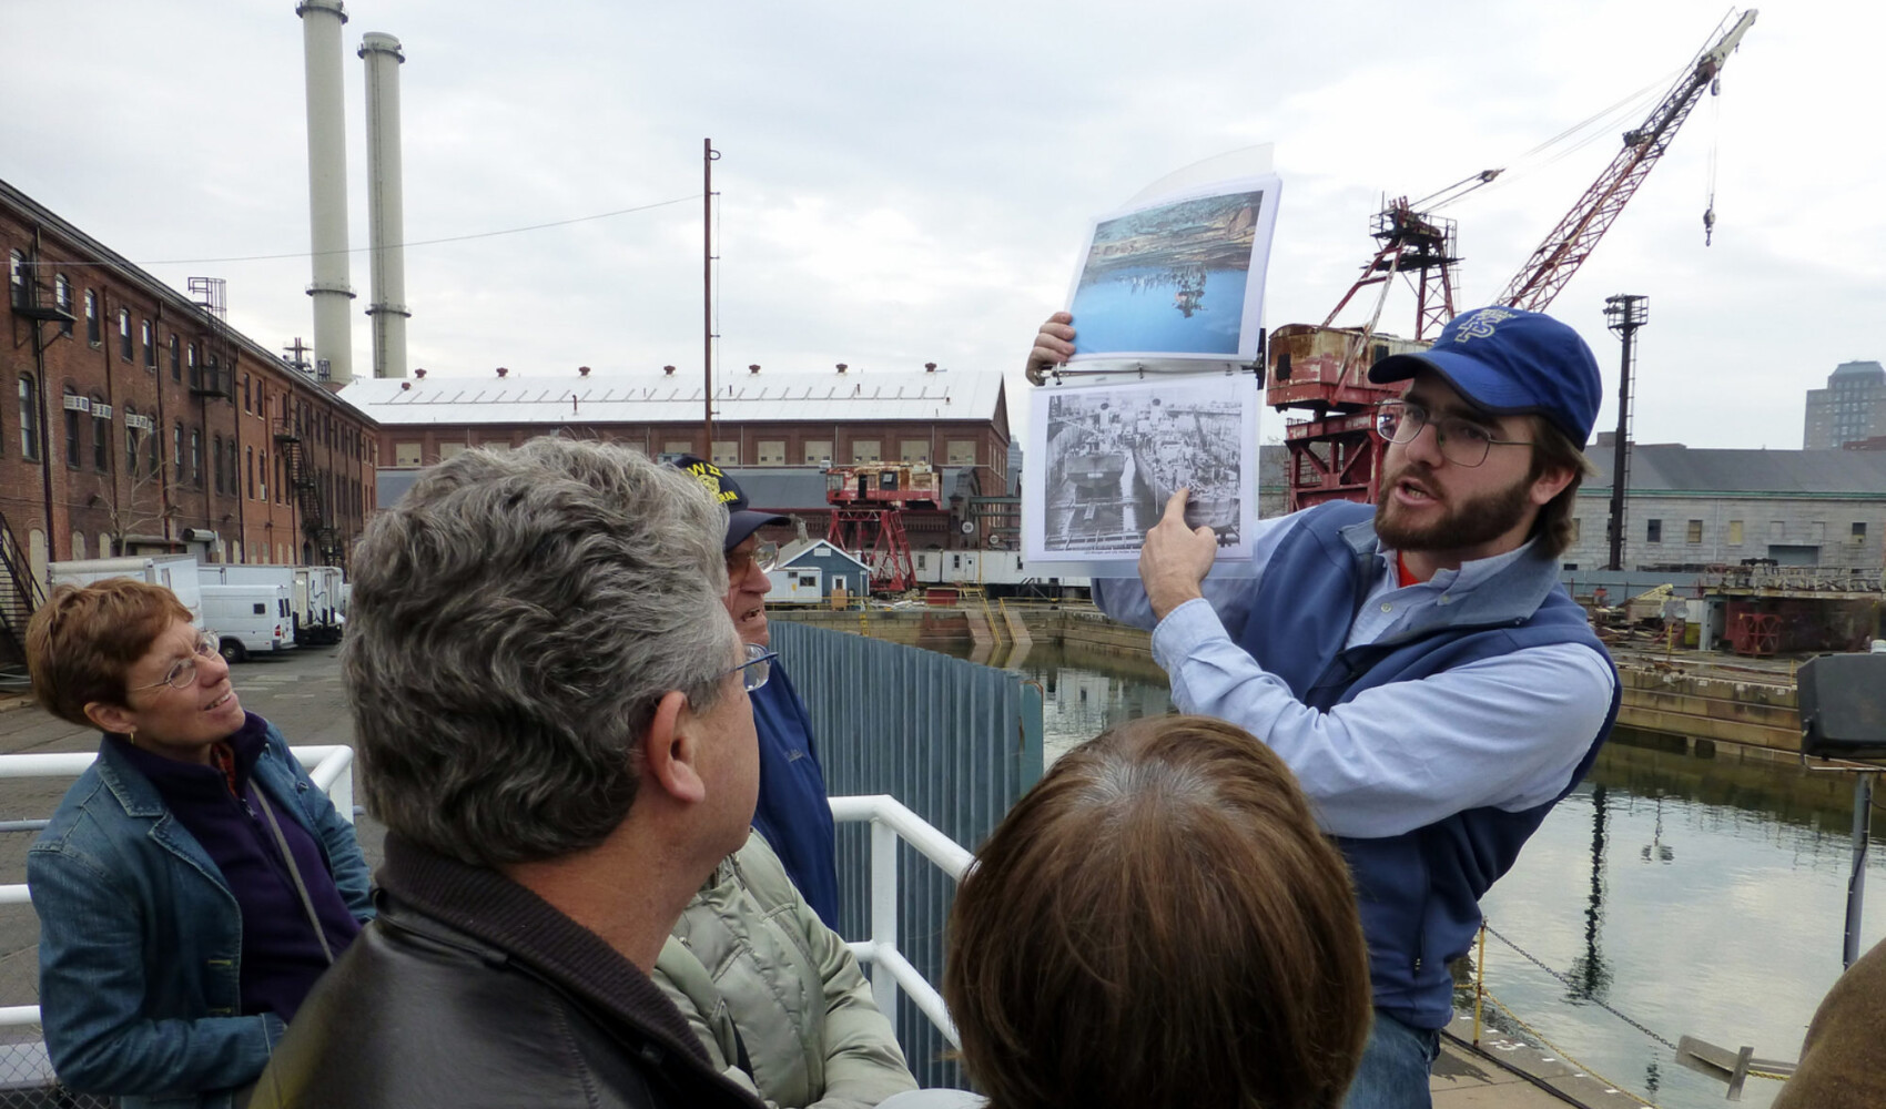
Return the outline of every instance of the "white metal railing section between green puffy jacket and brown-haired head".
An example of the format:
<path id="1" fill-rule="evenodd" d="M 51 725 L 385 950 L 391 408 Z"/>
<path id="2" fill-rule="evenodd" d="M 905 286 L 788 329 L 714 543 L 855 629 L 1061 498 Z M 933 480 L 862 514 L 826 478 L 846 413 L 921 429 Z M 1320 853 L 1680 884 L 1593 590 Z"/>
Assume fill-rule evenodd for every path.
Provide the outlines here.
<path id="1" fill-rule="evenodd" d="M 949 1018 L 949 1009 L 943 1005 L 943 994 L 898 951 L 898 839 L 937 864 L 952 881 L 962 881 L 975 856 L 932 828 L 922 817 L 905 809 L 896 798 L 875 794 L 832 798 L 830 803 L 834 820 L 871 822 L 871 937 L 851 945 L 858 962 L 873 968 L 871 1000 L 896 1026 L 898 990 L 902 988 L 951 1041 L 951 1047 L 962 1047 L 956 1037 L 956 1022 Z"/>

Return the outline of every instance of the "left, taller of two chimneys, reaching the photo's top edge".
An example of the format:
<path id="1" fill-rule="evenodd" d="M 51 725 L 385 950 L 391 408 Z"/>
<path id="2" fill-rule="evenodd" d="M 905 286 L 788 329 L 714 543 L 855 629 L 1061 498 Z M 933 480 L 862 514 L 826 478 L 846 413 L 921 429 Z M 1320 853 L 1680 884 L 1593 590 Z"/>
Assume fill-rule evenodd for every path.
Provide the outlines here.
<path id="1" fill-rule="evenodd" d="M 307 70 L 307 226 L 315 255 L 315 375 L 353 381 L 353 321 L 347 302 L 347 117 L 341 96 L 341 0 L 302 0 L 302 57 Z"/>

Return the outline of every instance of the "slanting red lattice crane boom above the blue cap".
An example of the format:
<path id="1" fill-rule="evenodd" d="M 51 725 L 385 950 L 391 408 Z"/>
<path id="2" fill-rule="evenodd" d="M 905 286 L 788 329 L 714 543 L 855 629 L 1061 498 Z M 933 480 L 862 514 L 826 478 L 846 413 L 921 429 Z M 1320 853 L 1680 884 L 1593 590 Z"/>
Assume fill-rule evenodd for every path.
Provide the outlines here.
<path id="1" fill-rule="evenodd" d="M 1703 91 L 1722 72 L 1722 62 L 1741 43 L 1743 34 L 1754 21 L 1756 9 L 1750 8 L 1735 21 L 1735 26 L 1696 58 L 1696 64 L 1677 79 L 1677 85 L 1671 87 L 1669 94 L 1663 96 L 1662 104 L 1650 111 L 1641 126 L 1624 132 L 1624 149 L 1618 151 L 1618 157 L 1584 190 L 1579 204 L 1558 221 L 1552 234 L 1520 266 L 1520 272 L 1507 283 L 1505 292 L 1499 294 L 1497 304 L 1531 311 L 1545 311 L 1545 306 L 1552 304 L 1558 290 L 1571 281 L 1579 266 L 1592 255 L 1597 240 L 1611 230 L 1611 223 L 1624 211 L 1626 202 L 1643 185 L 1650 168 L 1669 149 L 1677 128 L 1690 117 L 1690 109 L 1703 98 Z"/>

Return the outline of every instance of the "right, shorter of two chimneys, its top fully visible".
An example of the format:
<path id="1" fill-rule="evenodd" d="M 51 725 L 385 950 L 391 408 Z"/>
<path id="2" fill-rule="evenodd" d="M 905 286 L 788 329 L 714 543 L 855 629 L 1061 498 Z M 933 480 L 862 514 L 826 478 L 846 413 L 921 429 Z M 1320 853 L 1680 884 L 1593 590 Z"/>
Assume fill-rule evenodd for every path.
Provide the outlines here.
<path id="1" fill-rule="evenodd" d="M 405 377 L 405 211 L 400 185 L 400 40 L 360 40 L 366 60 L 366 228 L 373 253 L 373 377 Z"/>

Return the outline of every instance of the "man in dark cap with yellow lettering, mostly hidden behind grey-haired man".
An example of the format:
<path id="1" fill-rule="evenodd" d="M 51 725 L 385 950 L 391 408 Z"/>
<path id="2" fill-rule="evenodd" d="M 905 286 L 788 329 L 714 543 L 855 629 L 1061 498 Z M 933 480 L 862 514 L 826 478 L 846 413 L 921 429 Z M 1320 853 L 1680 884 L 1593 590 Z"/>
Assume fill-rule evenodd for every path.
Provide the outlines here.
<path id="1" fill-rule="evenodd" d="M 720 600 L 741 639 L 769 647 L 766 594 L 773 588 L 773 579 L 768 571 L 779 549 L 760 541 L 760 528 L 792 521 L 747 507 L 739 483 L 705 458 L 683 455 L 675 466 L 692 473 L 726 505 L 726 596 Z M 747 696 L 753 700 L 753 728 L 760 736 L 760 802 L 753 811 L 753 826 L 785 864 L 786 877 L 805 896 L 805 903 L 826 928 L 837 928 L 832 805 L 826 803 L 824 771 L 813 747 L 805 702 L 777 658 L 766 685 Z"/>

